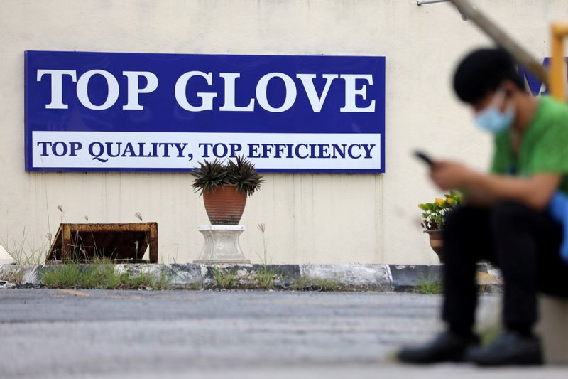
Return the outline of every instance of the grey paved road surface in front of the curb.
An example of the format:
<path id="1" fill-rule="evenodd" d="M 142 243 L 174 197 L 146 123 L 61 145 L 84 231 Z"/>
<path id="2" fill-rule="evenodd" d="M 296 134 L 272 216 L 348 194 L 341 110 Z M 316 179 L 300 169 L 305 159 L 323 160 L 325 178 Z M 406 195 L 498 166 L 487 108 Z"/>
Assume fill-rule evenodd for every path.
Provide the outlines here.
<path id="1" fill-rule="evenodd" d="M 0 377 L 567 378 L 567 368 L 393 363 L 438 331 L 417 294 L 0 290 Z M 481 297 L 488 322 L 499 297 Z"/>

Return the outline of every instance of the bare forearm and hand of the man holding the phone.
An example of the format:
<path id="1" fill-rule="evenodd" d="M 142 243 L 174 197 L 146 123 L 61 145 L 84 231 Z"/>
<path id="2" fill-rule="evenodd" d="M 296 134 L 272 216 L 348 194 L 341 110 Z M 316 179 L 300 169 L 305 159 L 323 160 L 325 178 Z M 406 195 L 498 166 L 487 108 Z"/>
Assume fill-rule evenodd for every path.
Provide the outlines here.
<path id="1" fill-rule="evenodd" d="M 490 204 L 501 200 L 518 201 L 530 208 L 544 210 L 562 180 L 560 174 L 535 174 L 530 178 L 483 174 L 466 166 L 439 161 L 430 173 L 440 188 L 464 188 L 474 203 Z"/>

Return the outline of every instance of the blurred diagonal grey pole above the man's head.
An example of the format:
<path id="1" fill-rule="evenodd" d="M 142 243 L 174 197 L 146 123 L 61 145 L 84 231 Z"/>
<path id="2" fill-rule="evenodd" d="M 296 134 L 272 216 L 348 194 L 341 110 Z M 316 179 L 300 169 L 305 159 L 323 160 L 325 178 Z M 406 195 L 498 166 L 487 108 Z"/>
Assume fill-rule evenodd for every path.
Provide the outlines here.
<path id="1" fill-rule="evenodd" d="M 520 46 L 513 38 L 510 38 L 503 29 L 499 28 L 487 16 L 474 8 L 468 0 L 449 0 L 456 6 L 458 11 L 473 21 L 482 31 L 493 39 L 499 46 L 513 55 L 515 60 L 523 65 L 535 77 L 548 86 L 548 73 L 532 55 Z"/>

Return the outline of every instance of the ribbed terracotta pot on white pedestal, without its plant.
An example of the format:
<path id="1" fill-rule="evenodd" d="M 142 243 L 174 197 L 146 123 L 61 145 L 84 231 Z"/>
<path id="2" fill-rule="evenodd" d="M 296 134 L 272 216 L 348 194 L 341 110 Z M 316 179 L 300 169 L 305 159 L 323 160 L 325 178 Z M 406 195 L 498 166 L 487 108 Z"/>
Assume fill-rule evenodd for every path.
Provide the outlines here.
<path id="1" fill-rule="evenodd" d="M 205 210 L 212 225 L 239 225 L 246 205 L 246 194 L 235 191 L 235 188 L 229 185 L 203 193 Z"/>

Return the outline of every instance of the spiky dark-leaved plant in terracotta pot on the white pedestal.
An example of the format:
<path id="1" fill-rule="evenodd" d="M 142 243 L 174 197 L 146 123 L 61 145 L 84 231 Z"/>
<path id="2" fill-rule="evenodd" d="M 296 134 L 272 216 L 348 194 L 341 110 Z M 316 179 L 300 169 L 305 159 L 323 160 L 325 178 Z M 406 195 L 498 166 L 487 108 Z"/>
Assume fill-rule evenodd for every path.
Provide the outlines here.
<path id="1" fill-rule="evenodd" d="M 192 186 L 203 196 L 212 225 L 239 225 L 246 198 L 258 191 L 263 182 L 254 164 L 244 156 L 226 163 L 218 159 L 204 161 L 192 175 Z"/>

